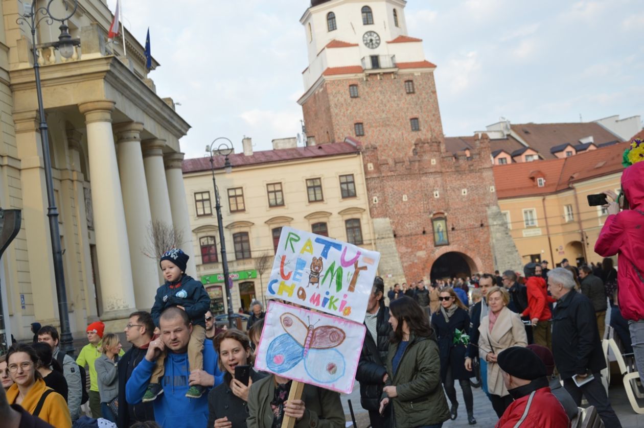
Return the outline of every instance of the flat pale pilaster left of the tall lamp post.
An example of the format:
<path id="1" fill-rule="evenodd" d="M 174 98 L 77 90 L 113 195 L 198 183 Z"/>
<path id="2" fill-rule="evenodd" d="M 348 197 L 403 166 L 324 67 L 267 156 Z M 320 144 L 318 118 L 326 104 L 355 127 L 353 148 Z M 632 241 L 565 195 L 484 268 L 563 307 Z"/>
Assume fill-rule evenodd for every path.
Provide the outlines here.
<path id="1" fill-rule="evenodd" d="M 15 144 L 21 162 L 17 183 L 22 188 L 16 195 L 22 198 L 26 254 L 22 255 L 24 262 L 18 266 L 19 282 L 11 286 L 15 290 L 17 319 L 21 320 L 19 323 L 26 324 L 23 324 L 23 328 L 28 328 L 29 321 L 24 319 L 28 315 L 35 315 L 37 321 L 43 323 L 59 322 L 58 298 L 53 275 L 52 237 L 47 218 L 47 188 L 38 113 L 35 110 L 15 112 L 14 122 Z M 60 201 L 57 203 L 60 204 Z"/>

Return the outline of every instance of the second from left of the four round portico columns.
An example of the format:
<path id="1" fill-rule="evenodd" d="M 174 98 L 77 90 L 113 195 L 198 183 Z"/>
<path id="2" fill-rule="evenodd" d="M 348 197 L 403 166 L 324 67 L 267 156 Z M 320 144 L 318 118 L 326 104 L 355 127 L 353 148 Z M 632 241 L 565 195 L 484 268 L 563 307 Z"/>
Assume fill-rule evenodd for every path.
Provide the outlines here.
<path id="1" fill-rule="evenodd" d="M 141 151 L 143 124 L 128 122 L 114 127 L 117 134 L 125 221 L 128 225 L 129 259 L 132 265 L 137 308 L 151 308 L 158 287 L 158 265 L 151 236 L 152 214 L 147 197 L 146 172 Z"/>

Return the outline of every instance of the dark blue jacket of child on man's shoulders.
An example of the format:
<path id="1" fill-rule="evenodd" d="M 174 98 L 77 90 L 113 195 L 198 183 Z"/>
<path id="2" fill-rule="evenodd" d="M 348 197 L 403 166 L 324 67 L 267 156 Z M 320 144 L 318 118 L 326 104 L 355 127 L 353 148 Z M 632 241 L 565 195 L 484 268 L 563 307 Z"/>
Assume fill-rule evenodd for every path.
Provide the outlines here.
<path id="1" fill-rule="evenodd" d="M 178 286 L 166 281 L 157 288 L 155 304 L 150 311 L 155 326 L 159 326 L 163 310 L 171 306 L 183 306 L 193 326 L 205 328 L 205 313 L 210 309 L 210 296 L 205 291 L 204 284 L 184 274 Z"/>

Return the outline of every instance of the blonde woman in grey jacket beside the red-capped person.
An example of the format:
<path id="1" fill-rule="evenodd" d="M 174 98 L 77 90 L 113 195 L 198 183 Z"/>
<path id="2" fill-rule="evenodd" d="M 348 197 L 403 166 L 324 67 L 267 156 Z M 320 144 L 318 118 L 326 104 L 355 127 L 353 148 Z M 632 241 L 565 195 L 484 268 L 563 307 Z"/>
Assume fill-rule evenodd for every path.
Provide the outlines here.
<path id="1" fill-rule="evenodd" d="M 104 335 L 100 346 L 102 355 L 94 362 L 99 384 L 100 413 L 103 418 L 115 423 L 118 417 L 118 353 L 121 348 L 117 335 Z"/>

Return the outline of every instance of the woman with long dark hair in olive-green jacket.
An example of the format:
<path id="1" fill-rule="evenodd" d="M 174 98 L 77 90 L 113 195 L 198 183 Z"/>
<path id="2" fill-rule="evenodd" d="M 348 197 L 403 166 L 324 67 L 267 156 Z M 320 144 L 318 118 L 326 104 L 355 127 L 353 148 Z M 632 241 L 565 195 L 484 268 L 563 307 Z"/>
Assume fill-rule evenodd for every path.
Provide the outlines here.
<path id="1" fill-rule="evenodd" d="M 393 332 L 381 411 L 393 404 L 397 428 L 439 428 L 450 411 L 440 383 L 439 348 L 428 319 L 410 297 L 396 299 L 389 311 Z"/>

